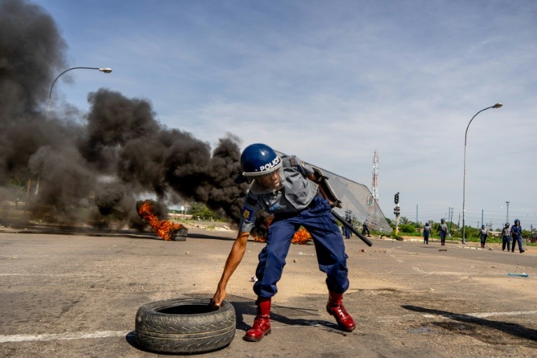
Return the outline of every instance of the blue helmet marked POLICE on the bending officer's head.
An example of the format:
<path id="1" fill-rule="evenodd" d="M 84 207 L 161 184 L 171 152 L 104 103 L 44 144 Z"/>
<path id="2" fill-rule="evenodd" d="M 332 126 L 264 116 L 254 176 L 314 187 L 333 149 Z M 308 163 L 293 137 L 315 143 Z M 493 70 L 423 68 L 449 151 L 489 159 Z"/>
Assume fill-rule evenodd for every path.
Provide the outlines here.
<path id="1" fill-rule="evenodd" d="M 241 155 L 241 170 L 235 182 L 244 182 L 248 177 L 263 176 L 277 171 L 282 166 L 282 159 L 266 144 L 250 144 Z"/>

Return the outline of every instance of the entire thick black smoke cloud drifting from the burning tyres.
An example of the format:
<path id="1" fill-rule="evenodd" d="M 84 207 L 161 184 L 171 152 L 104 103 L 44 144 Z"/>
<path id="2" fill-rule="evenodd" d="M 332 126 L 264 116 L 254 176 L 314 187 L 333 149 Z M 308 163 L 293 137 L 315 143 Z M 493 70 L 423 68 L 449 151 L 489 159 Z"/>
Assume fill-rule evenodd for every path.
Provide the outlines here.
<path id="1" fill-rule="evenodd" d="M 52 80 L 68 68 L 65 52 L 42 8 L 0 0 L 0 201 L 23 195 L 35 215 L 57 221 L 75 220 L 76 208 L 87 206 L 83 220 L 102 224 L 113 215 L 136 224 L 136 201 L 156 196 L 203 202 L 238 220 L 248 186 L 233 181 L 240 148 L 232 134 L 211 149 L 160 124 L 149 101 L 105 89 L 88 95 L 85 117 L 64 110 L 71 115 L 47 119 Z"/>

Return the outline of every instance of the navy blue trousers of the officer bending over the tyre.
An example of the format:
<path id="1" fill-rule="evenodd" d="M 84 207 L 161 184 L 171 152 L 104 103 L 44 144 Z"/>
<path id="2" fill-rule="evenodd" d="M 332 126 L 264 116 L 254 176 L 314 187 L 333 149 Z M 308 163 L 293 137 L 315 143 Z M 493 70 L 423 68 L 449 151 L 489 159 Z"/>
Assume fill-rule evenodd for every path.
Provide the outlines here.
<path id="1" fill-rule="evenodd" d="M 257 296 L 268 298 L 278 292 L 276 284 L 282 277 L 293 235 L 300 226 L 305 227 L 313 238 L 319 269 L 327 274 L 329 291 L 343 294 L 349 288 L 348 256 L 343 236 L 328 201 L 316 196 L 310 207 L 299 213 L 275 215 L 268 227 L 266 246 L 259 252 L 255 271 L 257 282 L 254 284 Z"/>

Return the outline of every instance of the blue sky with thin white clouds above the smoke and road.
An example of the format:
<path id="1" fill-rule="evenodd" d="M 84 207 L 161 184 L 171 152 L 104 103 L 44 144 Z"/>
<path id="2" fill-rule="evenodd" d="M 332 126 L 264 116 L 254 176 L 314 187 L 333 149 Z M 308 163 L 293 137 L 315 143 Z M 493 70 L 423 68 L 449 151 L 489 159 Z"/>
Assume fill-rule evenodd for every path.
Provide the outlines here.
<path id="1" fill-rule="evenodd" d="M 267 143 L 439 221 L 537 227 L 537 2 L 41 0 L 71 71 L 54 101 L 100 87 L 215 143 Z M 64 78 L 65 77 L 65 78 Z"/>

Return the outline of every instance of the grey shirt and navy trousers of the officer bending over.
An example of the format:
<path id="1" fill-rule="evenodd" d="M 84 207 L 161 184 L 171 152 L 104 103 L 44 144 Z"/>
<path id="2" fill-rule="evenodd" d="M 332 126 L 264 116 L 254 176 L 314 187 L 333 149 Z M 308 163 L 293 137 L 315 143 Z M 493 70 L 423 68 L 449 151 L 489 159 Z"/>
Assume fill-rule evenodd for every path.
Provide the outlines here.
<path id="1" fill-rule="evenodd" d="M 269 298 L 278 292 L 276 284 L 282 277 L 291 240 L 301 226 L 313 238 L 319 268 L 327 273 L 329 291 L 343 294 L 349 287 L 348 256 L 329 202 L 319 193 L 317 184 L 307 178 L 313 169 L 296 157 L 284 156 L 279 172 L 280 189 L 264 189 L 252 182 L 241 212 L 238 229 L 243 232 L 252 230 L 257 211 L 274 215 L 266 246 L 259 252 L 255 294 Z"/>

